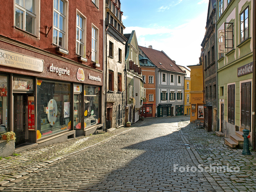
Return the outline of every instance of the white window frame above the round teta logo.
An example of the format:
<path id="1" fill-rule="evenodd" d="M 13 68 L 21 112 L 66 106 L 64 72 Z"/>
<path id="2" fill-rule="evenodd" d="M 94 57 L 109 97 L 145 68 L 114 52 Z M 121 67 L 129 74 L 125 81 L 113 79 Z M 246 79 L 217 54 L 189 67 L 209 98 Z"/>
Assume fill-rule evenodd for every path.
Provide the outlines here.
<path id="1" fill-rule="evenodd" d="M 78 16 L 79 16 L 79 25 L 80 25 L 80 18 L 82 18 L 82 25 L 83 28 L 78 26 Z M 82 41 L 80 41 L 79 39 L 77 39 L 77 30 L 82 31 Z M 81 44 L 83 46 L 83 54 L 81 54 L 81 50 L 80 50 L 80 46 L 77 46 L 77 44 Z M 79 54 L 80 53 L 80 54 Z M 76 54 L 81 55 L 83 57 L 86 57 L 86 17 L 84 15 L 81 14 L 80 11 L 76 10 Z"/>

